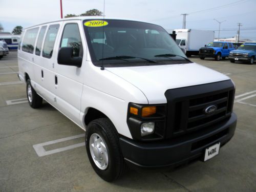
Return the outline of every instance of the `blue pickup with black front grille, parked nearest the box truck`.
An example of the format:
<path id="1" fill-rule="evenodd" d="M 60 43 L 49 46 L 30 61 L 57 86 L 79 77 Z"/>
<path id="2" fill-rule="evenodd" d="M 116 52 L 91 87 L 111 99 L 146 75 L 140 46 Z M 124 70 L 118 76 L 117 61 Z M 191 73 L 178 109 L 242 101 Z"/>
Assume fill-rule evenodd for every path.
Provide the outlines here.
<path id="1" fill-rule="evenodd" d="M 200 59 L 205 57 L 214 57 L 215 60 L 219 61 L 221 58 L 226 58 L 229 52 L 234 50 L 234 46 L 231 42 L 226 41 L 215 41 L 210 42 L 205 47 L 199 50 Z"/>

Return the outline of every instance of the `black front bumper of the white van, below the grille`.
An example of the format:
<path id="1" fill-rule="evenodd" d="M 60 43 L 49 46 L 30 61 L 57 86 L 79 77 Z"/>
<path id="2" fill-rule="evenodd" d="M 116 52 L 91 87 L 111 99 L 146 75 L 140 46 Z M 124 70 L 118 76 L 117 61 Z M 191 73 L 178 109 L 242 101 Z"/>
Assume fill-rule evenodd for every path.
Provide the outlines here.
<path id="1" fill-rule="evenodd" d="M 202 158 L 205 148 L 220 142 L 227 143 L 234 135 L 237 116 L 211 129 L 157 142 L 139 142 L 120 138 L 122 154 L 127 164 L 140 169 L 174 168 L 193 159 Z M 221 153 L 221 151 L 220 151 Z"/>

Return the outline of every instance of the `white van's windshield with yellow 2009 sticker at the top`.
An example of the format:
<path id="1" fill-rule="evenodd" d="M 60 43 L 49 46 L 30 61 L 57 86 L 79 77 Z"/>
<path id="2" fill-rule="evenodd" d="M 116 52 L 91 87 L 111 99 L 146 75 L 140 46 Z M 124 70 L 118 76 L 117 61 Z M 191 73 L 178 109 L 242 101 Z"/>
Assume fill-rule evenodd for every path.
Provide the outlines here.
<path id="1" fill-rule="evenodd" d="M 190 63 L 160 26 L 129 20 L 84 20 L 95 66 L 129 67 Z"/>

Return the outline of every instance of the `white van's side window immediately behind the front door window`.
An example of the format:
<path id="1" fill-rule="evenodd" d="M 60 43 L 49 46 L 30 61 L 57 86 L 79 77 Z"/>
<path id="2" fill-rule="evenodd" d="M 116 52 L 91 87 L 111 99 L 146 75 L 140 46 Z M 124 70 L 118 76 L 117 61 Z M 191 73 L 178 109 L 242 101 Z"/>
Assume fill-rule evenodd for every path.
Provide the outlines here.
<path id="1" fill-rule="evenodd" d="M 50 25 L 46 34 L 44 48 L 42 49 L 42 56 L 51 58 L 55 39 L 58 33 L 59 25 Z"/>

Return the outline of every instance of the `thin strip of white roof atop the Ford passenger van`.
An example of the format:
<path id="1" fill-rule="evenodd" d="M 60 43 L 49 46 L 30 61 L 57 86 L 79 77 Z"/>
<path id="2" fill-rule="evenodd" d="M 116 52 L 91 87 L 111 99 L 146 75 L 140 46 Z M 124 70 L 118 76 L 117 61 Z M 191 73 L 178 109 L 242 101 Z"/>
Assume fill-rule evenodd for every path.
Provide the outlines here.
<path id="1" fill-rule="evenodd" d="M 50 23 L 54 23 L 54 22 L 63 22 L 63 21 L 66 21 L 66 20 L 85 20 L 85 19 L 116 19 L 116 20 L 131 20 L 131 21 L 134 21 L 134 22 L 142 22 L 141 20 L 130 19 L 130 18 L 103 17 L 103 16 L 79 16 L 79 17 L 68 17 L 68 18 L 62 18 L 62 19 L 59 19 L 59 20 L 53 20 L 52 22 L 41 23 L 41 24 L 38 24 L 38 25 L 26 27 L 24 29 L 30 29 L 30 28 L 33 28 L 33 27 L 46 25 L 46 24 L 50 24 Z M 148 23 L 148 22 L 144 22 L 144 23 Z"/>

